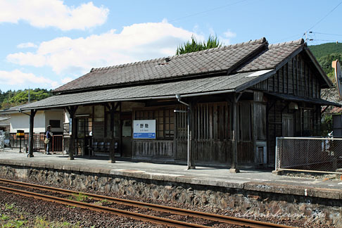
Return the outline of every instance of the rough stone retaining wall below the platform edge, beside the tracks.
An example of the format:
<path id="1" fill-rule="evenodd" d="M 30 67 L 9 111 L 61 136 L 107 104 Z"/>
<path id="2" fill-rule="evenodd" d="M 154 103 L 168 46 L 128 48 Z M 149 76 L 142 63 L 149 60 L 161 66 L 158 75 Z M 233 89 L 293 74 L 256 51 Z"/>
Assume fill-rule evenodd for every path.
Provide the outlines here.
<path id="1" fill-rule="evenodd" d="M 291 217 L 291 219 L 302 220 L 303 222 L 313 222 L 317 225 L 329 224 L 342 228 L 341 199 L 329 200 L 294 194 L 18 165 L 0 166 L 0 176 L 23 178 L 61 187 L 72 186 L 78 191 L 115 192 L 120 195 L 139 198 L 205 205 L 238 211 L 241 213 L 237 215 L 244 217 Z"/>

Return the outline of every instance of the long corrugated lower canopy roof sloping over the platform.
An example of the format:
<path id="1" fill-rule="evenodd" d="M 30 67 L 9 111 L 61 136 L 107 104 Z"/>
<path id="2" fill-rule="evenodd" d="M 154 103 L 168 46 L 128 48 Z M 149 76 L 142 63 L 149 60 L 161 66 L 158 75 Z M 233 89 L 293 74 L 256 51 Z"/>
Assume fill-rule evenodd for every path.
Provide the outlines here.
<path id="1" fill-rule="evenodd" d="M 265 71 L 263 71 L 262 73 L 265 73 Z M 42 101 L 29 103 L 21 107 L 21 109 L 43 109 L 71 106 L 81 103 L 103 103 L 109 101 L 130 101 L 151 98 L 163 99 L 168 97 L 175 98 L 175 94 L 189 96 L 191 94 L 201 95 L 210 92 L 215 93 L 215 91 L 232 92 L 236 87 L 239 87 L 242 84 L 254 80 L 255 77 L 248 77 L 253 74 L 255 74 L 255 72 L 243 72 L 228 76 L 222 75 L 216 77 L 198 78 L 193 80 L 182 80 L 178 82 L 166 82 L 160 84 L 146 84 L 116 89 L 84 91 L 74 94 L 61 94 L 57 96 L 50 96 Z"/>

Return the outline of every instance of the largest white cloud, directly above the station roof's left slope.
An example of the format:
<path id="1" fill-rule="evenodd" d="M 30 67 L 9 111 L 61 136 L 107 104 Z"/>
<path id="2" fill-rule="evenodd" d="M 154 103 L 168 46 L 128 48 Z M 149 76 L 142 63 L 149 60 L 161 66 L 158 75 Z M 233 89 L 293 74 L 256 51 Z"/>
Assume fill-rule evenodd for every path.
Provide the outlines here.
<path id="1" fill-rule="evenodd" d="M 20 65 L 49 66 L 58 74 L 80 75 L 91 68 L 173 56 L 177 46 L 193 34 L 165 20 L 141 23 L 124 27 L 120 33 L 110 30 L 85 38 L 58 37 L 42 42 L 34 53 L 9 54 L 7 60 Z M 203 36 L 194 35 L 203 40 Z"/>

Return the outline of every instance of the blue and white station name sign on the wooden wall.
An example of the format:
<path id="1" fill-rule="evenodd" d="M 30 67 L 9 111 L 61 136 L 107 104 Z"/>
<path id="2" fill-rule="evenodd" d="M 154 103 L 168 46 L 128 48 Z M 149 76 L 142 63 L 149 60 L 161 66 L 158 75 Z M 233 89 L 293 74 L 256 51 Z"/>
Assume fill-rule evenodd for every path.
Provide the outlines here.
<path id="1" fill-rule="evenodd" d="M 133 139 L 156 139 L 156 120 L 133 120 Z"/>

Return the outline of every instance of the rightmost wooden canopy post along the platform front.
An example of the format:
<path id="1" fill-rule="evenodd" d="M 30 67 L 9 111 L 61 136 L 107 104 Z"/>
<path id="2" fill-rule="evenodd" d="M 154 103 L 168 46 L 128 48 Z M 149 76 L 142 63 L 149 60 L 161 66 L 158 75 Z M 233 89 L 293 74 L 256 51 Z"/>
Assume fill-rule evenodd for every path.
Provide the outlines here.
<path id="1" fill-rule="evenodd" d="M 237 156 L 238 156 L 238 141 L 239 141 L 239 106 L 238 101 L 240 98 L 237 94 L 234 94 L 233 102 L 233 153 L 232 153 L 232 164 L 230 166 L 229 172 L 240 172 L 237 168 Z"/>

